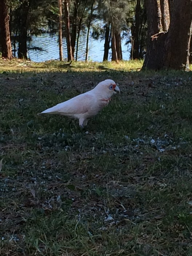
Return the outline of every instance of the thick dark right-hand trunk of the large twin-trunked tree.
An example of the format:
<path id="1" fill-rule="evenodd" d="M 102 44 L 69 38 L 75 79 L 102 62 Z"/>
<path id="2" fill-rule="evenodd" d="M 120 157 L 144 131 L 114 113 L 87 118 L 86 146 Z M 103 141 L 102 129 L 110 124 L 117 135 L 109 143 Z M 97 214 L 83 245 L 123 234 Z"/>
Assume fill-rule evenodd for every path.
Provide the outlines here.
<path id="1" fill-rule="evenodd" d="M 165 41 L 165 68 L 188 69 L 192 32 L 192 0 L 174 0 L 168 37 Z"/>

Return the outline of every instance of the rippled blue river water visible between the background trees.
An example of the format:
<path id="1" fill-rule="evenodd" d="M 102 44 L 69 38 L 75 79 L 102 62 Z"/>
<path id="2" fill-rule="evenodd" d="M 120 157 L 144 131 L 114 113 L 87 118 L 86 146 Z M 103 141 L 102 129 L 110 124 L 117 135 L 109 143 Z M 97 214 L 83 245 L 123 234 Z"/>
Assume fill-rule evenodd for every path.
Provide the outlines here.
<path id="1" fill-rule="evenodd" d="M 78 60 L 85 60 L 85 48 L 86 48 L 86 40 L 87 40 L 87 31 L 85 33 L 81 32 L 79 39 L 79 50 L 78 50 Z M 104 40 L 96 40 L 93 39 L 92 31 L 90 31 L 89 35 L 89 53 L 88 60 L 89 61 L 103 61 L 104 54 Z M 30 42 L 31 47 L 41 47 L 44 51 L 36 51 L 29 50 L 28 55 L 32 61 L 41 62 L 47 60 L 59 60 L 59 43 L 58 43 L 58 35 L 55 34 L 51 36 L 49 33 L 43 33 L 40 36 L 32 36 L 32 40 Z M 131 45 L 125 45 L 126 39 L 122 39 L 122 52 L 123 52 L 123 60 L 130 59 L 130 49 Z M 67 59 L 67 45 L 66 39 L 63 38 L 63 58 Z M 109 50 L 109 60 L 111 60 L 111 49 Z"/>

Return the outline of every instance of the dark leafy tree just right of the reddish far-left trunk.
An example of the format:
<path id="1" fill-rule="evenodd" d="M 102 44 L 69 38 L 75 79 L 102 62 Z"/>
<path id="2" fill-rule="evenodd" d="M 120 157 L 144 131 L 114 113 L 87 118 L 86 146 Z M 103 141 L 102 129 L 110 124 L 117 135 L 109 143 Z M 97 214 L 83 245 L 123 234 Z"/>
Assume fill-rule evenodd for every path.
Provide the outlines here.
<path id="1" fill-rule="evenodd" d="M 41 35 L 46 32 L 44 28 L 49 24 L 49 13 L 52 9 L 50 0 L 10 0 L 11 4 L 11 40 L 14 48 L 14 55 L 18 51 L 18 57 L 28 59 L 30 41 L 32 35 Z M 58 24 L 58 2 L 54 2 L 56 6 L 55 17 Z M 56 26 L 58 31 L 58 26 Z M 43 47 L 34 47 L 43 50 Z M 34 49 L 33 48 L 33 49 Z"/>

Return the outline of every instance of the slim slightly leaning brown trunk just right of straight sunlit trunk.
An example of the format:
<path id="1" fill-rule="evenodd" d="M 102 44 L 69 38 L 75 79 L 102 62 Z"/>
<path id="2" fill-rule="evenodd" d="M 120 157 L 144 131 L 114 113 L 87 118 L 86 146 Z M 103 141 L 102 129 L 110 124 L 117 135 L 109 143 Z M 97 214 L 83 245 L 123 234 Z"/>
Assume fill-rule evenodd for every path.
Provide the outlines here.
<path id="1" fill-rule="evenodd" d="M 66 26 L 66 38 L 67 38 L 67 59 L 73 60 L 72 48 L 71 48 L 71 36 L 70 36 L 70 20 L 69 20 L 69 3 L 68 0 L 64 1 L 65 8 L 65 26 Z"/>

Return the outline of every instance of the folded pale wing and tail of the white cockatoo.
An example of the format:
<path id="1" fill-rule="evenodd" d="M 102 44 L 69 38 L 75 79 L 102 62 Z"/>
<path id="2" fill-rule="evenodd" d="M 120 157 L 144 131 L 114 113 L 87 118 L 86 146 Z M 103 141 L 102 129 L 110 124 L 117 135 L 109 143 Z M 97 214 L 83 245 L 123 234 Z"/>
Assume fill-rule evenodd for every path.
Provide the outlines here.
<path id="1" fill-rule="evenodd" d="M 94 95 L 92 95 L 91 93 L 83 93 L 70 100 L 59 103 L 52 108 L 48 108 L 45 111 L 41 112 L 41 114 L 84 114 L 89 111 L 94 101 Z"/>

